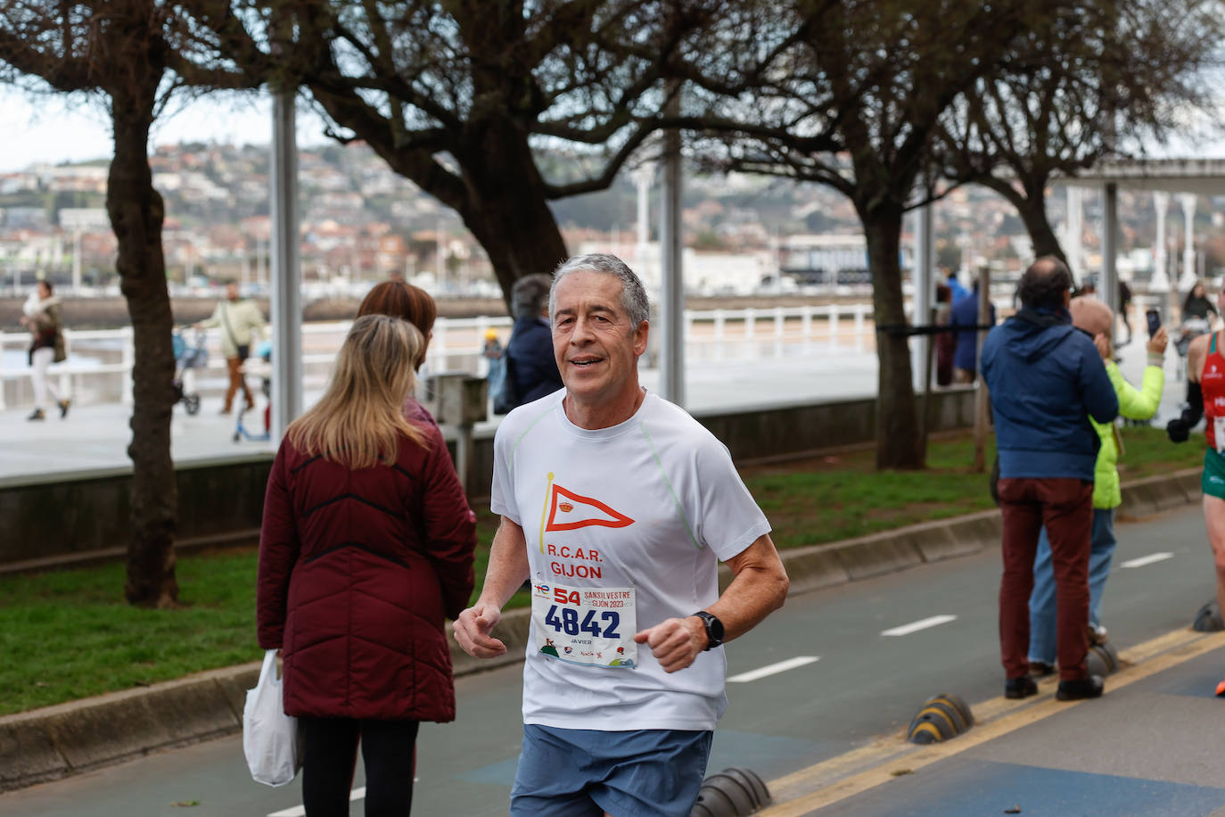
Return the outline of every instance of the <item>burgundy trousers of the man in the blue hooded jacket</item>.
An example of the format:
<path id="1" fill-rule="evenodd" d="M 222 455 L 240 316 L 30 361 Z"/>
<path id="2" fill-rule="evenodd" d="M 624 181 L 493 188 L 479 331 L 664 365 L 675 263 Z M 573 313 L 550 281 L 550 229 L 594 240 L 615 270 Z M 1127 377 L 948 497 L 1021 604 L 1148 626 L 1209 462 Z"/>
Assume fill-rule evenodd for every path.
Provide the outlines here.
<path id="1" fill-rule="evenodd" d="M 1093 483 L 1069 478 L 1000 480 L 1003 577 L 1000 581 L 1000 657 L 1006 677 L 1029 671 L 1029 594 L 1038 534 L 1046 525 L 1055 568 L 1056 654 L 1060 680 L 1083 679 L 1089 642 L 1089 541 Z"/>

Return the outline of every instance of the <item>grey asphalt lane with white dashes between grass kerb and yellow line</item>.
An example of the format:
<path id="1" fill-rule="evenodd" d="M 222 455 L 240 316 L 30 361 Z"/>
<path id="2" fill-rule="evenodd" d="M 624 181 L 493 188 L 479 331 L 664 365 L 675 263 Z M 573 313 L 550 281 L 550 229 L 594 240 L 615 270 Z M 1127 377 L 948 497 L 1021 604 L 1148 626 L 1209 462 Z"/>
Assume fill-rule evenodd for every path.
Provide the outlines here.
<path id="1" fill-rule="evenodd" d="M 1198 506 L 1121 523 L 1117 533 L 1102 612 L 1112 641 L 1123 649 L 1186 627 L 1213 593 Z M 1160 554 L 1169 556 L 1122 567 Z M 998 551 L 990 549 L 790 599 L 728 647 L 730 676 L 783 661 L 794 668 L 729 683 L 709 772 L 741 766 L 769 780 L 903 728 L 932 695 L 971 704 L 997 697 L 997 585 Z M 414 813 L 505 815 L 519 742 L 519 668 L 468 676 L 457 687 L 459 719 L 423 725 Z M 296 783 L 252 783 L 234 736 L 0 795 L 0 815 L 290 817 L 300 802 Z M 352 813 L 363 813 L 360 799 Z"/>

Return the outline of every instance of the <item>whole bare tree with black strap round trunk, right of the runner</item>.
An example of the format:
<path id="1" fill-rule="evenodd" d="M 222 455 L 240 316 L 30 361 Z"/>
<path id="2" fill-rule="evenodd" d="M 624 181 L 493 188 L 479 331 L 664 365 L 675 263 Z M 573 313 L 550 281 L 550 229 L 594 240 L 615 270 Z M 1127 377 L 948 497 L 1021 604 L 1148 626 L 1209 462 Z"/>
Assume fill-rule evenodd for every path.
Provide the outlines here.
<path id="1" fill-rule="evenodd" d="M 766 4 L 764 29 L 785 48 L 750 75 L 706 55 L 688 78 L 722 96 L 723 124 L 681 124 L 730 132 L 723 167 L 818 181 L 846 195 L 864 225 L 872 304 L 881 331 L 877 392 L 878 468 L 922 468 L 902 293 L 904 213 L 936 194 L 933 134 L 959 94 L 1020 53 L 1049 2 L 1003 0 L 795 0 Z M 750 4 L 752 7 L 752 4 Z M 764 9 L 764 12 L 762 11 Z M 709 49 L 708 51 L 709 53 Z M 746 109 L 740 86 L 752 86 Z M 730 92 L 730 93 L 729 93 Z M 712 103 L 713 104 L 713 103 Z M 728 125 L 739 119 L 742 126 Z"/>

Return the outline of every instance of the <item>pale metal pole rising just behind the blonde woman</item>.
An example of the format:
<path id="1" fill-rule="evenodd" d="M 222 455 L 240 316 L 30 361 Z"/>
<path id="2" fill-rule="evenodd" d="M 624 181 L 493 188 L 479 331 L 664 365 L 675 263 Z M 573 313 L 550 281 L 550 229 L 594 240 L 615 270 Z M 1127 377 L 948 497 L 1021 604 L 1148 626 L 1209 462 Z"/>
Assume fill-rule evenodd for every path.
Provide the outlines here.
<path id="1" fill-rule="evenodd" d="M 294 92 L 272 100 L 272 440 L 303 410 L 301 269 Z"/>

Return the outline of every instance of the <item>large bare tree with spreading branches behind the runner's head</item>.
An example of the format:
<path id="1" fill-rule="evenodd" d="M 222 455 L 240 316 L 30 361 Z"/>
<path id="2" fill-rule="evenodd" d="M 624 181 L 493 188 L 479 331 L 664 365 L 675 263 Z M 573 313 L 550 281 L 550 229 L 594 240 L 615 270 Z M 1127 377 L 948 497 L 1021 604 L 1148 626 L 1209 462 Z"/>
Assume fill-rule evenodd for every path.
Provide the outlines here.
<path id="1" fill-rule="evenodd" d="M 657 126 L 666 65 L 715 13 L 701 0 L 184 5 L 194 61 L 306 88 L 331 136 L 363 140 L 461 216 L 507 298 L 566 257 L 549 202 L 612 183 Z M 274 60 L 278 13 L 294 28 Z M 550 175 L 539 148 L 571 160 Z"/>

